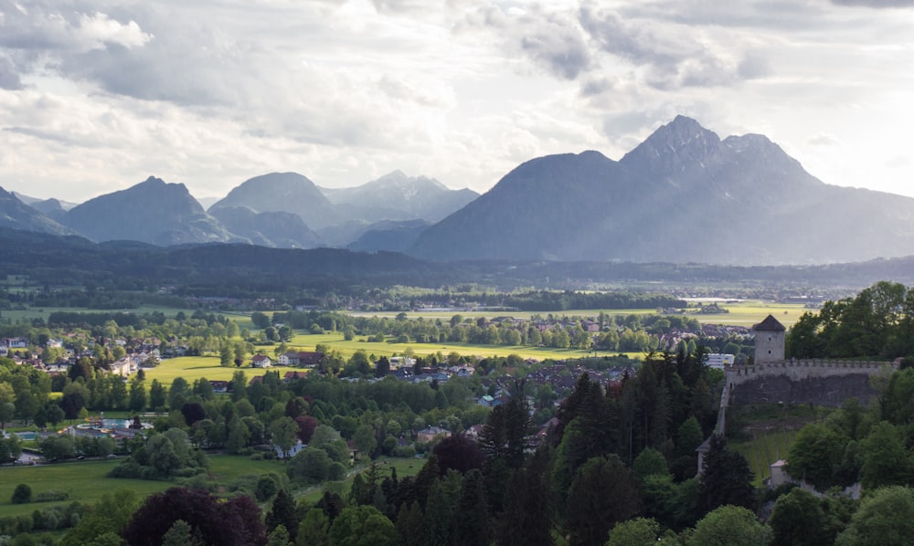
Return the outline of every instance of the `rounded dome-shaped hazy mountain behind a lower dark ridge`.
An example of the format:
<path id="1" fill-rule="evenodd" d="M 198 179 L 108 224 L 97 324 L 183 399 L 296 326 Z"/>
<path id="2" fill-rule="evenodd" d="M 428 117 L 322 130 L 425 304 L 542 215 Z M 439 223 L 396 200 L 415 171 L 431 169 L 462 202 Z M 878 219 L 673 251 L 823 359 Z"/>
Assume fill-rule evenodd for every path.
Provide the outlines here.
<path id="1" fill-rule="evenodd" d="M 338 223 L 334 205 L 313 182 L 298 173 L 255 176 L 228 192 L 209 211 L 230 206 L 245 206 L 258 213 L 292 213 L 312 229 Z"/>

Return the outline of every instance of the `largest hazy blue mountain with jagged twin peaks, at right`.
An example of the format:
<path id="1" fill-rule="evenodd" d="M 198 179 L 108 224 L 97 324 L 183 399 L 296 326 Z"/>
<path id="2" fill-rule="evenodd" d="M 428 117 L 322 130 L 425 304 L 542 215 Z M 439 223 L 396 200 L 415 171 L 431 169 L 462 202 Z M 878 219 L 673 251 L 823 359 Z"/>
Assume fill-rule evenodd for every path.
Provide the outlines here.
<path id="1" fill-rule="evenodd" d="M 914 254 L 914 199 L 824 184 L 761 135 L 679 116 L 619 162 L 521 164 L 425 230 L 433 259 L 808 264 Z"/>

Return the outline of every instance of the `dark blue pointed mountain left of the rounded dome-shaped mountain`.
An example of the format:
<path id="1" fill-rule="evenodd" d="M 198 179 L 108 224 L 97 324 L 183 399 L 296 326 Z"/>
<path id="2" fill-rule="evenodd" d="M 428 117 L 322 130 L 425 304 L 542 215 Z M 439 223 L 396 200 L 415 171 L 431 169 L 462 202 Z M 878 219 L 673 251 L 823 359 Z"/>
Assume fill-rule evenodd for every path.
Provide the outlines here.
<path id="1" fill-rule="evenodd" d="M 203 212 L 184 184 L 165 184 L 153 176 L 73 207 L 64 222 L 94 241 L 133 240 L 169 246 L 241 240 Z"/>

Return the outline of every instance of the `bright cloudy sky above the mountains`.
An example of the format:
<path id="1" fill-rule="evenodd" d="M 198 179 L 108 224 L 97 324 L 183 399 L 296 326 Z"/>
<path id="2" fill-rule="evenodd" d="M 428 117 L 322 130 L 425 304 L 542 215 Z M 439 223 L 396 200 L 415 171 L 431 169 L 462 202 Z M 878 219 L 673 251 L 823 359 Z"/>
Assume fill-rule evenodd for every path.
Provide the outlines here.
<path id="1" fill-rule="evenodd" d="M 483 193 L 682 114 L 914 196 L 914 0 L 0 0 L 0 186 L 401 170 Z"/>

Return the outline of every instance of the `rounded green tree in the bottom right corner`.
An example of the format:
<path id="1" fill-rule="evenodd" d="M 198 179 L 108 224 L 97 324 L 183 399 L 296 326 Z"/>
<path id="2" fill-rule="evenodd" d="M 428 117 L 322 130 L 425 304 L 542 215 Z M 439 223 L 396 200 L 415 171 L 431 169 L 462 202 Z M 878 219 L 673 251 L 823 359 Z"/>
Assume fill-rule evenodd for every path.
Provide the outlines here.
<path id="1" fill-rule="evenodd" d="M 907 487 L 880 488 L 865 497 L 850 525 L 834 542 L 837 546 L 901 546 L 914 536 L 914 491 Z"/>

